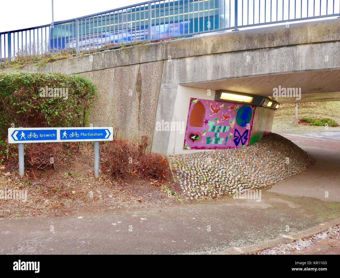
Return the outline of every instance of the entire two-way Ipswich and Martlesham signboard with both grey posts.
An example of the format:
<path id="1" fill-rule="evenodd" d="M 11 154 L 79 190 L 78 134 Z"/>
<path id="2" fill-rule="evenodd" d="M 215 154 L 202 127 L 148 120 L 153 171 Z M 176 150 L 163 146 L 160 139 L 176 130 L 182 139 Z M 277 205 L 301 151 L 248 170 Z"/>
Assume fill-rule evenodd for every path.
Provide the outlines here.
<path id="1" fill-rule="evenodd" d="M 19 174 L 24 176 L 24 143 L 94 142 L 95 176 L 99 177 L 99 141 L 112 141 L 113 127 L 8 128 L 8 143 L 18 144 Z"/>

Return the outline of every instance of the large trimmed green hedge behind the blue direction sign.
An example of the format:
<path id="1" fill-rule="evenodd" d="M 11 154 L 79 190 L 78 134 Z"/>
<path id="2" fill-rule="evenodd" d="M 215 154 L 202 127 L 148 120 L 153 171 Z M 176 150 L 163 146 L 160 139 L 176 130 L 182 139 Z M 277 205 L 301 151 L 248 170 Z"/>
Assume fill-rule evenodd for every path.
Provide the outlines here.
<path id="1" fill-rule="evenodd" d="M 12 123 L 15 127 L 85 126 L 95 98 L 96 86 L 80 75 L 0 71 L 1 132 L 6 135 Z"/>

